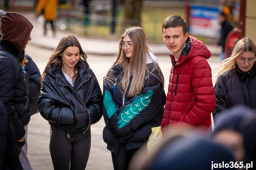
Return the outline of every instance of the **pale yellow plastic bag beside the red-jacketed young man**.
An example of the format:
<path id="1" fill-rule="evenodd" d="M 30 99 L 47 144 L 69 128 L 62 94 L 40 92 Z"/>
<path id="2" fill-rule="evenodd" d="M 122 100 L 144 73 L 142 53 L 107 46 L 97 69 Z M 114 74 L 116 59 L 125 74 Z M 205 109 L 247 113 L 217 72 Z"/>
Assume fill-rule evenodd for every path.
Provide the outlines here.
<path id="1" fill-rule="evenodd" d="M 147 141 L 147 151 L 152 153 L 156 146 L 160 144 L 163 139 L 163 134 L 161 132 L 161 126 L 152 127 L 152 133 Z"/>

